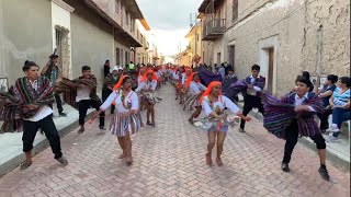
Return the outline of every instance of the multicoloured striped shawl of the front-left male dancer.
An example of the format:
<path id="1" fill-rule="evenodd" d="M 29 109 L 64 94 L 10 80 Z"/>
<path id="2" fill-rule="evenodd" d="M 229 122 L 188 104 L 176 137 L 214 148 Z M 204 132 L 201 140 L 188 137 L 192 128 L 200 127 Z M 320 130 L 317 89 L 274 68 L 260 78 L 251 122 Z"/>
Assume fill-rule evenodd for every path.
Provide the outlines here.
<path id="1" fill-rule="evenodd" d="M 33 89 L 29 78 L 20 78 L 9 92 L 0 92 L 0 120 L 3 120 L 0 132 L 21 130 L 23 118 L 30 118 L 37 109 L 24 108 L 24 105 L 52 105 L 55 101 L 54 88 L 46 77 L 38 77 L 37 90 Z"/>

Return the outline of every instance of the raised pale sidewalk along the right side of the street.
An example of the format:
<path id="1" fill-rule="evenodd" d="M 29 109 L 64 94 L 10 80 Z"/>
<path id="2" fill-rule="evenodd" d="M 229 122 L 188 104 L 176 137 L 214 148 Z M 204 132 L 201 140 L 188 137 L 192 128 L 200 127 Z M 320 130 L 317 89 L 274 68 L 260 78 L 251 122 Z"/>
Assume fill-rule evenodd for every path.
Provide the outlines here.
<path id="1" fill-rule="evenodd" d="M 242 108 L 244 107 L 244 97 L 239 95 L 239 102 L 237 105 Z M 258 112 L 258 109 L 253 109 L 250 113 L 251 116 L 263 123 L 263 116 Z M 327 142 L 327 160 L 332 163 L 335 166 L 350 171 L 350 130 L 343 124 L 341 129 L 341 134 L 339 136 L 340 140 L 337 142 Z M 327 140 L 328 135 L 324 135 Z M 317 152 L 316 144 L 310 138 L 299 138 L 299 142 L 305 147 L 312 149 Z"/>

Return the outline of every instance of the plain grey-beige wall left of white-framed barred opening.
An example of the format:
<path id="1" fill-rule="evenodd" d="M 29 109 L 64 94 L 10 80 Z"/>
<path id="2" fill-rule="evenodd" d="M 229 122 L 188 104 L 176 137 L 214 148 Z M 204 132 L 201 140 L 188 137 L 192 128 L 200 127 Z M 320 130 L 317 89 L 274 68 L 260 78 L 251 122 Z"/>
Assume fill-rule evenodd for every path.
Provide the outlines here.
<path id="1" fill-rule="evenodd" d="M 12 84 L 26 59 L 43 68 L 53 53 L 52 2 L 0 1 L 0 77 Z"/>

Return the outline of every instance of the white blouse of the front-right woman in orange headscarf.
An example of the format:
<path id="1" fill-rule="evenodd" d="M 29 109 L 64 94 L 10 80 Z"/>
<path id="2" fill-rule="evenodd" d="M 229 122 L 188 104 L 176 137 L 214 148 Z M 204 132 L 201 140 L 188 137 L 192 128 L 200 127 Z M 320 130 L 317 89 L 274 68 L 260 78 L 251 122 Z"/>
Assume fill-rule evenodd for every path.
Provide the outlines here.
<path id="1" fill-rule="evenodd" d="M 240 112 L 240 108 L 236 104 L 234 104 L 227 96 L 224 95 L 222 95 L 222 101 L 218 96 L 218 101 L 213 103 L 212 105 L 210 104 L 208 97 L 205 96 L 202 102 L 202 107 L 206 116 L 210 116 L 210 114 L 214 112 L 214 109 L 217 107 L 219 107 L 220 111 L 224 111 L 224 108 L 227 107 L 234 114 Z"/>

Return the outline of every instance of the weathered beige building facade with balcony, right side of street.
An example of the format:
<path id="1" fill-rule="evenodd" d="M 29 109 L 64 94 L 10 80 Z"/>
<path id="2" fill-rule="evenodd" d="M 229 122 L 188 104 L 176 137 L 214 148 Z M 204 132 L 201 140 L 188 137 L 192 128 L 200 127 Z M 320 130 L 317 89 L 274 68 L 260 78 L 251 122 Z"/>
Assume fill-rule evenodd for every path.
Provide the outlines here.
<path id="1" fill-rule="evenodd" d="M 204 0 L 199 11 L 212 13 L 203 40 L 211 36 L 214 62 L 234 65 L 239 78 L 258 63 L 273 95 L 304 70 L 317 86 L 329 73 L 350 76 L 350 1 Z"/>

